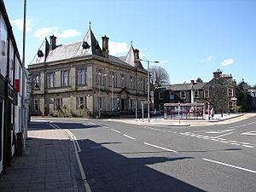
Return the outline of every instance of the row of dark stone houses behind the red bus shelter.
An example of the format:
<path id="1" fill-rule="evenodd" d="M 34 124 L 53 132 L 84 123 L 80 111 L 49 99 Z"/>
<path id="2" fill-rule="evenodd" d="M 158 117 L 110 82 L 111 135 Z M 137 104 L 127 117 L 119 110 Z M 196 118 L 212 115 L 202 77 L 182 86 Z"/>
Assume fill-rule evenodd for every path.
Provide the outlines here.
<path id="1" fill-rule="evenodd" d="M 208 103 L 217 112 L 236 111 L 236 81 L 220 70 L 207 83 L 168 84 L 154 91 L 154 108 L 163 110 L 165 103 Z"/>

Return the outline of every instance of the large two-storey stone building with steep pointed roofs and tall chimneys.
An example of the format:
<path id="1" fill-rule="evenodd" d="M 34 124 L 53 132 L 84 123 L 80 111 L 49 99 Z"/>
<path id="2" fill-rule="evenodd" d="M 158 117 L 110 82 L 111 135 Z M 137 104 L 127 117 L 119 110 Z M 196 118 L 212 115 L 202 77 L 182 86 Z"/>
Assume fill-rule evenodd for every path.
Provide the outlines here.
<path id="1" fill-rule="evenodd" d="M 58 45 L 45 38 L 28 66 L 32 74 L 32 115 L 103 116 L 132 113 L 147 96 L 147 71 L 139 50 L 125 57 L 108 54 L 91 29 L 83 40 Z"/>

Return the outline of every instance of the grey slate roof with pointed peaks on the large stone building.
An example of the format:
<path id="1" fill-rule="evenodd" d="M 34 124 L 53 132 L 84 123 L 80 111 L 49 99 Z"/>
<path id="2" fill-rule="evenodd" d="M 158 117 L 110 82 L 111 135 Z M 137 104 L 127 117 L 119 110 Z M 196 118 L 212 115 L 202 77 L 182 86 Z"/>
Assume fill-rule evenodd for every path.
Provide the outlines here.
<path id="1" fill-rule="evenodd" d="M 84 42 L 85 48 L 83 47 Z M 96 40 L 91 29 L 85 34 L 83 41 L 79 41 L 73 44 L 57 45 L 55 49 L 49 50 L 49 42 L 45 38 L 43 44 L 39 47 L 38 51 L 42 51 L 43 55 L 38 55 L 38 53 L 32 59 L 30 65 L 52 62 L 52 61 L 62 61 L 76 57 L 83 57 L 88 55 L 96 55 L 104 58 L 102 55 L 102 49 Z M 116 57 L 109 55 L 109 61 L 118 63 L 120 65 L 125 65 L 129 67 L 135 67 L 134 63 L 134 49 L 131 46 L 128 54 L 125 57 Z M 140 61 L 138 61 L 138 67 L 144 69 Z"/>

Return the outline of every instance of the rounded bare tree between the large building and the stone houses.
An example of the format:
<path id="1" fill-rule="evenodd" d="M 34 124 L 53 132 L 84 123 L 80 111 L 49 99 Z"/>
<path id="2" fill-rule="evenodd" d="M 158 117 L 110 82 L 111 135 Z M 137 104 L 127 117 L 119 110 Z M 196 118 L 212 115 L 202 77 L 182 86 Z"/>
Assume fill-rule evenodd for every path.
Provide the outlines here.
<path id="1" fill-rule="evenodd" d="M 169 74 L 166 69 L 160 66 L 149 68 L 151 88 L 159 87 L 162 84 L 170 84 Z"/>

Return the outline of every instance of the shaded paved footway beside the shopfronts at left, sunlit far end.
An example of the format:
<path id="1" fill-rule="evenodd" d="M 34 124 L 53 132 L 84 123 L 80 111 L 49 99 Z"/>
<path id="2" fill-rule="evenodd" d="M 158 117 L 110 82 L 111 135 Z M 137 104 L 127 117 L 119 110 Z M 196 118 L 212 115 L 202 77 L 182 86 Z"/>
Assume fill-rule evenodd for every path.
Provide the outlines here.
<path id="1" fill-rule="evenodd" d="M 73 143 L 64 130 L 28 131 L 27 148 L 0 178 L 3 192 L 78 192 Z M 83 191 L 83 190 L 82 190 Z"/>

